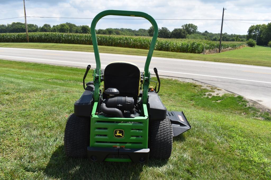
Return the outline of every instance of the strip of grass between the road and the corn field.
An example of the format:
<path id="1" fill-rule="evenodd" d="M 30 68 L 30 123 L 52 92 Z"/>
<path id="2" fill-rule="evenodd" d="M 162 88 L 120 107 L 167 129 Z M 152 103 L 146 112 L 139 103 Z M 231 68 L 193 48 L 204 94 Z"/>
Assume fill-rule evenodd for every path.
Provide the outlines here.
<path id="1" fill-rule="evenodd" d="M 78 44 L 53 44 L 53 43 L 0 43 L 0 47 L 11 48 L 34 48 L 34 49 L 54 49 L 69 51 L 93 52 L 92 45 Z M 147 56 L 146 49 L 120 48 L 112 46 L 99 46 L 99 52 L 112 54 L 127 54 Z M 256 46 L 255 48 L 244 47 L 242 49 L 226 51 L 216 54 L 193 54 L 180 52 L 154 51 L 154 57 L 192 59 L 199 61 L 226 62 L 235 64 L 247 64 L 256 66 L 271 67 L 271 48 Z"/>

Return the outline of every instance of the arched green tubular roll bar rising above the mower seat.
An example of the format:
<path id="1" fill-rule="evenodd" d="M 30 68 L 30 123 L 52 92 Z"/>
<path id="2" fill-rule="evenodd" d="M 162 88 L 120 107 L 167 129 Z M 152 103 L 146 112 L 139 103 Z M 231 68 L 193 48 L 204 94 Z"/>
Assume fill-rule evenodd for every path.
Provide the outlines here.
<path id="1" fill-rule="evenodd" d="M 97 22 L 104 16 L 108 15 L 115 15 L 115 16 L 133 16 L 133 17 L 142 17 L 150 21 L 150 23 L 153 25 L 154 34 L 153 38 L 151 40 L 149 53 L 147 55 L 145 67 L 144 67 L 144 80 L 143 80 L 143 95 L 142 95 L 142 101 L 143 104 L 147 104 L 147 98 L 148 98 L 148 89 L 150 85 L 150 72 L 149 72 L 149 66 L 151 61 L 151 56 L 153 55 L 153 51 L 155 48 L 157 36 L 158 36 L 158 26 L 156 21 L 151 17 L 149 14 L 146 14 L 144 12 L 139 11 L 119 11 L 119 10 L 106 10 L 102 11 L 99 14 L 97 14 L 91 23 L 91 37 L 92 37 L 92 44 L 94 49 L 94 55 L 95 55 L 95 61 L 96 61 L 96 69 L 94 70 L 94 102 L 99 101 L 99 89 L 101 86 L 101 60 L 99 55 L 99 49 L 98 49 L 98 43 L 97 43 L 97 37 L 95 32 L 95 27 Z"/>

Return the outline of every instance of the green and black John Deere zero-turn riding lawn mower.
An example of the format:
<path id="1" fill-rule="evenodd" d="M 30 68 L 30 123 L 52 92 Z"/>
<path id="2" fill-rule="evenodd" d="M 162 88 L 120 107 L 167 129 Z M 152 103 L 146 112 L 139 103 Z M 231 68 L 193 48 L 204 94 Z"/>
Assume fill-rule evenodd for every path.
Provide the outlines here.
<path id="1" fill-rule="evenodd" d="M 128 62 L 112 62 L 101 69 L 95 33 L 96 23 L 104 16 L 143 17 L 154 28 L 153 39 L 144 72 Z M 157 94 L 160 79 L 151 80 L 149 65 L 156 44 L 158 27 L 148 14 L 136 11 L 107 10 L 95 16 L 91 23 L 92 43 L 96 60 L 93 81 L 83 77 L 83 92 L 74 104 L 74 114 L 67 120 L 64 148 L 67 156 L 84 157 L 93 162 L 118 161 L 147 163 L 149 157 L 167 159 L 171 155 L 173 136 L 191 126 L 183 112 L 169 112 Z M 150 82 L 155 88 L 149 87 Z M 101 82 L 104 82 L 102 89 Z"/>

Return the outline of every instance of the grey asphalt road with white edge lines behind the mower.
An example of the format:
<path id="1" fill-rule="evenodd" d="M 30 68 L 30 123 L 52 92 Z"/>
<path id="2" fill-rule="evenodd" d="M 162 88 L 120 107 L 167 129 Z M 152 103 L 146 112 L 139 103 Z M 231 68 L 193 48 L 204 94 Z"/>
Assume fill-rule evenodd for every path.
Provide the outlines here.
<path id="1" fill-rule="evenodd" d="M 144 69 L 146 57 L 100 53 L 102 68 L 113 61 L 128 61 Z M 257 57 L 255 61 L 257 61 Z M 95 68 L 92 52 L 42 49 L 0 48 L 0 59 Z M 150 72 L 159 75 L 191 78 L 257 101 L 271 109 L 271 68 L 185 59 L 153 57 Z"/>

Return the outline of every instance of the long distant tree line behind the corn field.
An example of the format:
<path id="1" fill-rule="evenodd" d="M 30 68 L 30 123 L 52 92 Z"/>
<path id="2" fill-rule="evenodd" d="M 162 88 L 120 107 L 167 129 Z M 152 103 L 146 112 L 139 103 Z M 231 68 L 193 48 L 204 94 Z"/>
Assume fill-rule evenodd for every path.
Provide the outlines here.
<path id="1" fill-rule="evenodd" d="M 77 26 L 66 22 L 59 25 L 44 24 L 39 27 L 36 24 L 27 24 L 28 32 L 64 32 L 64 33 L 90 33 L 88 25 Z M 25 32 L 25 25 L 21 22 L 12 22 L 7 25 L 0 25 L 0 33 Z M 127 29 L 127 28 L 107 28 L 97 29 L 96 34 L 105 35 L 128 35 L 128 36 L 153 36 L 153 27 L 149 29 Z M 158 37 L 160 38 L 189 38 L 219 41 L 220 33 L 211 33 L 208 31 L 199 32 L 198 26 L 194 24 L 184 24 L 181 28 L 175 28 L 172 31 L 166 27 L 159 28 Z M 224 33 L 222 41 L 246 41 L 246 35 L 236 35 Z"/>

